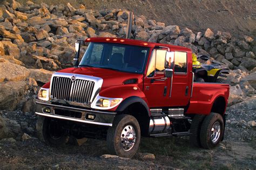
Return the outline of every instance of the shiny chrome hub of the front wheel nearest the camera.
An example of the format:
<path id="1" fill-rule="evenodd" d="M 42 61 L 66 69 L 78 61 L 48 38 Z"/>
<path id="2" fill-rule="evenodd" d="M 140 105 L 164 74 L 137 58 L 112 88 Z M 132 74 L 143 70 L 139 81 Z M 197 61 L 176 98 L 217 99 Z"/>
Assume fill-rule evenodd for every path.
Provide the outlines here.
<path id="1" fill-rule="evenodd" d="M 121 133 L 120 144 L 124 151 L 130 151 L 134 146 L 136 141 L 136 132 L 132 125 L 127 125 L 124 127 Z"/>

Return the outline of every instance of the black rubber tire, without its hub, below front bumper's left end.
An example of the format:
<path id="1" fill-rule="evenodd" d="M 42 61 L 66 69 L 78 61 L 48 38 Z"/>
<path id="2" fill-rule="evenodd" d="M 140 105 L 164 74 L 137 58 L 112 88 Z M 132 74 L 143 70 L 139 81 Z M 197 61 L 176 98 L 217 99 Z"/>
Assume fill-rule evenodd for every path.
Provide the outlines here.
<path id="1" fill-rule="evenodd" d="M 51 130 L 49 128 L 50 121 L 52 121 L 51 118 L 38 116 L 37 123 L 36 123 L 38 138 L 41 141 L 43 141 L 45 144 L 48 144 L 50 146 L 60 147 L 65 145 L 69 140 L 69 136 L 63 133 L 63 135 L 61 135 L 60 138 L 53 139 L 49 133 L 49 131 Z"/>

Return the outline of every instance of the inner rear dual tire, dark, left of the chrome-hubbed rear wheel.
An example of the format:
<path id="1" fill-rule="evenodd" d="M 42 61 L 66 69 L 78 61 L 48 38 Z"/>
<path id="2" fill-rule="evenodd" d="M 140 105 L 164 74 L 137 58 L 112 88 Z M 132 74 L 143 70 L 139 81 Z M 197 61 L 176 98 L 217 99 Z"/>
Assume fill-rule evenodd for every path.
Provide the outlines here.
<path id="1" fill-rule="evenodd" d="M 190 145 L 195 147 L 200 147 L 200 130 L 201 125 L 204 121 L 205 115 L 196 115 L 194 116 L 191 126 L 190 126 Z"/>

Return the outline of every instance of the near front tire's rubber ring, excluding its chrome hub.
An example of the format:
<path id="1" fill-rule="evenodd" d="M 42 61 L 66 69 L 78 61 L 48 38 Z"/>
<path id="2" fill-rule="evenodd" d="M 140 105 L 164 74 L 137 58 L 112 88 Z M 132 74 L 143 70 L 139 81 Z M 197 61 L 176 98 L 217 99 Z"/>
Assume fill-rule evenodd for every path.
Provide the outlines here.
<path id="1" fill-rule="evenodd" d="M 123 150 L 120 145 L 120 136 L 126 125 L 132 125 L 136 132 L 136 141 L 130 151 Z M 110 154 L 119 157 L 132 158 L 136 154 L 140 142 L 140 128 L 137 119 L 131 115 L 118 115 L 114 118 L 113 125 L 107 131 L 107 148 Z"/>

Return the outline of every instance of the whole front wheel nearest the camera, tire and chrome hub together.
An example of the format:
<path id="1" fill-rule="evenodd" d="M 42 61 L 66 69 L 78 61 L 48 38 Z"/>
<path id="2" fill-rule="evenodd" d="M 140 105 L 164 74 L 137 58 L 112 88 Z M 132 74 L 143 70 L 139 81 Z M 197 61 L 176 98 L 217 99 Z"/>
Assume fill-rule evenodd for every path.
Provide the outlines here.
<path id="1" fill-rule="evenodd" d="M 107 131 L 107 148 L 111 154 L 132 158 L 140 142 L 140 128 L 137 119 L 131 115 L 118 115 Z"/>

